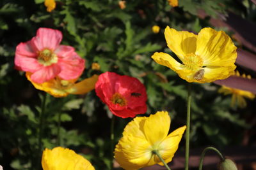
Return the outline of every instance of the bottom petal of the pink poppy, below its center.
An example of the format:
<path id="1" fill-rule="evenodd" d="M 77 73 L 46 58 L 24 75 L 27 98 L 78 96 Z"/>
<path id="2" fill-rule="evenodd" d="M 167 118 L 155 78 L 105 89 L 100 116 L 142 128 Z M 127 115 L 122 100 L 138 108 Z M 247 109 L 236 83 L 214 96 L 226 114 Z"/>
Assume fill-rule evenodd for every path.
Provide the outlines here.
<path id="1" fill-rule="evenodd" d="M 31 80 L 35 83 L 44 83 L 45 81 L 49 81 L 56 77 L 60 71 L 61 69 L 57 64 L 52 64 L 48 67 L 42 67 L 42 69 L 31 75 Z"/>

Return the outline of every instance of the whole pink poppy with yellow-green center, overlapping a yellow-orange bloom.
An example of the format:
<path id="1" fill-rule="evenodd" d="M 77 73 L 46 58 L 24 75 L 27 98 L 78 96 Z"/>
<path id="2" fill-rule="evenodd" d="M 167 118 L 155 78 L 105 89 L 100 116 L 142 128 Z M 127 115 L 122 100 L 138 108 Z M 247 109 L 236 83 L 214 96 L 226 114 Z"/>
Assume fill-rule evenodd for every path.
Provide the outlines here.
<path id="1" fill-rule="evenodd" d="M 31 80 L 44 83 L 59 76 L 63 80 L 79 77 L 84 70 L 84 59 L 72 46 L 60 45 L 62 34 L 56 29 L 40 28 L 30 41 L 16 47 L 15 66 L 30 72 Z"/>

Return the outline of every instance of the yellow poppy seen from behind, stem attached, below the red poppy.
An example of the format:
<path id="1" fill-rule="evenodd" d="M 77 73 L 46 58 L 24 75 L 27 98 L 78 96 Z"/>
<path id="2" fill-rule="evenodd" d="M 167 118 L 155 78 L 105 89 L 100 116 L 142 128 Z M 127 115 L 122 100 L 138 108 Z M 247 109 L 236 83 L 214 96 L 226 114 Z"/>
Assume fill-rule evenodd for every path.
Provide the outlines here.
<path id="1" fill-rule="evenodd" d="M 126 125 L 123 137 L 115 148 L 115 159 L 121 167 L 128 170 L 172 161 L 178 149 L 180 139 L 186 126 L 176 129 L 168 135 L 171 118 L 167 111 L 157 111 L 150 117 L 136 117 Z"/>

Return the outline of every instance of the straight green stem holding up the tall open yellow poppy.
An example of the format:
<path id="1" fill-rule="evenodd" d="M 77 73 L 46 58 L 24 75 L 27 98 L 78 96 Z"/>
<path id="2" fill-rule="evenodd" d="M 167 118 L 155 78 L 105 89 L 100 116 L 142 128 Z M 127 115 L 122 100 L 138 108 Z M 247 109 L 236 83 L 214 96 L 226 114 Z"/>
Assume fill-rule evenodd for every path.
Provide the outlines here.
<path id="1" fill-rule="evenodd" d="M 186 130 L 186 155 L 185 155 L 185 170 L 189 168 L 189 134 L 190 134 L 190 106 L 191 106 L 191 83 L 188 84 L 188 99 L 187 99 L 187 130 Z"/>

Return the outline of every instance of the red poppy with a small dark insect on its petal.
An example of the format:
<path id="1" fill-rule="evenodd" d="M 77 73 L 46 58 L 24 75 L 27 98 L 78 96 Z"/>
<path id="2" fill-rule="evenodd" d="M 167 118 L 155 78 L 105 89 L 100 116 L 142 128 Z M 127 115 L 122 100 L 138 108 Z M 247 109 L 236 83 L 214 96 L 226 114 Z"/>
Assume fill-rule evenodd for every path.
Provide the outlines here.
<path id="1" fill-rule="evenodd" d="M 137 78 L 106 72 L 100 74 L 95 91 L 118 117 L 135 117 L 147 111 L 146 89 Z"/>

